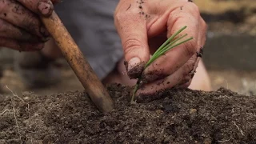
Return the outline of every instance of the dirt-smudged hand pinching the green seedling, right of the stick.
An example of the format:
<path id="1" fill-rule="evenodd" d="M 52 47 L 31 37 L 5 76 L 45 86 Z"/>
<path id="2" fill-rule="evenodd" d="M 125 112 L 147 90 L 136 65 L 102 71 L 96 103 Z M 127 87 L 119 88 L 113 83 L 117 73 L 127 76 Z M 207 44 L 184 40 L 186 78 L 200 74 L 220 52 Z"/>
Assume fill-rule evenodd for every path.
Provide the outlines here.
<path id="1" fill-rule="evenodd" d="M 143 89 L 137 94 L 190 85 L 206 42 L 207 26 L 198 6 L 188 0 L 120 0 L 114 20 L 128 75 L 142 74 Z M 187 28 L 182 34 L 194 39 L 166 52 L 142 72 L 150 54 L 183 26 Z"/>

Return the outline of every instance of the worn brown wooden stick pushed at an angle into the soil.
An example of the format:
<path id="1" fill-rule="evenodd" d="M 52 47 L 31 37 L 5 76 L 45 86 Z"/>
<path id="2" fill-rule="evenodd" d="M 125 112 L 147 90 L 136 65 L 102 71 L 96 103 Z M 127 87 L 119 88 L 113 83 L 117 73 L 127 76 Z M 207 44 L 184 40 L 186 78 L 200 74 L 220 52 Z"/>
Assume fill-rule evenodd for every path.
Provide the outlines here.
<path id="1" fill-rule="evenodd" d="M 66 27 L 58 18 L 58 15 L 53 12 L 49 18 L 42 18 L 42 22 L 46 25 L 47 30 L 62 50 L 66 61 L 69 62 L 82 86 L 86 89 L 87 94 L 89 94 L 98 109 L 102 112 L 113 110 L 114 102 L 110 98 L 110 95 L 107 93 L 98 76 L 94 73 L 90 64 L 86 61 L 86 58 L 66 30 Z"/>

